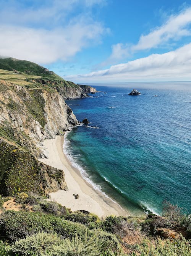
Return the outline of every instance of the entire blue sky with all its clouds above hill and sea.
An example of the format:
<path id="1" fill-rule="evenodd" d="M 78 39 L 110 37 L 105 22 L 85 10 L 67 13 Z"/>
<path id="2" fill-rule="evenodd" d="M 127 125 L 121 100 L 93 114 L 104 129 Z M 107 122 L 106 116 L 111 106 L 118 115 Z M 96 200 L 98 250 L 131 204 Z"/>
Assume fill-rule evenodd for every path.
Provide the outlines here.
<path id="1" fill-rule="evenodd" d="M 0 0 L 0 56 L 76 83 L 191 81 L 191 1 Z"/>

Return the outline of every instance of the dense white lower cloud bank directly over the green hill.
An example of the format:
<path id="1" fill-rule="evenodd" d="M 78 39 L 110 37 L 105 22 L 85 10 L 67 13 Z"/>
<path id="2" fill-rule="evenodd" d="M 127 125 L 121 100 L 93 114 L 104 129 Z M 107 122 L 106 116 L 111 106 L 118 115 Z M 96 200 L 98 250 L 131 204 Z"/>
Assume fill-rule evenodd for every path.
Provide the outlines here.
<path id="1" fill-rule="evenodd" d="M 0 55 L 44 64 L 66 61 L 90 41 L 99 42 L 104 31 L 100 23 L 84 21 L 50 31 L 1 25 Z"/>

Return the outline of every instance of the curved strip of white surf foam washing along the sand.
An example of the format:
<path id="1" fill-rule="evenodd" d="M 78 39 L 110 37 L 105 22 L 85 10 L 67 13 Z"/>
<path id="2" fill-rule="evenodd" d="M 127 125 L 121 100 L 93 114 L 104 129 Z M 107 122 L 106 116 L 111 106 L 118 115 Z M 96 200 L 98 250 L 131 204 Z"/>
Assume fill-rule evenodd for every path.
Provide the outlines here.
<path id="1" fill-rule="evenodd" d="M 114 203 L 116 203 L 117 205 L 119 205 L 116 201 L 114 201 L 112 198 L 108 197 L 107 194 L 105 194 L 103 191 L 102 191 L 102 188 L 100 185 L 97 185 L 95 184 L 94 182 L 92 182 L 92 180 L 89 178 L 89 175 L 87 174 L 86 170 L 81 167 L 81 165 L 79 165 L 75 158 L 73 157 L 73 155 L 71 154 L 71 151 L 70 151 L 70 147 L 71 147 L 71 143 L 70 143 L 70 140 L 67 140 L 67 135 L 68 133 L 71 132 L 70 131 L 67 131 L 65 132 L 65 135 L 64 135 L 64 144 L 63 144 L 63 152 L 64 154 L 66 155 L 66 157 L 68 158 L 68 160 L 71 162 L 72 166 L 74 168 L 77 168 L 82 176 L 82 178 L 84 180 L 86 180 L 89 184 L 92 185 L 92 187 L 95 189 L 95 190 L 98 190 L 99 192 L 101 192 L 102 194 L 104 194 L 105 197 L 109 198 L 111 201 L 113 201 Z M 119 205 L 120 206 L 120 205 Z M 120 206 L 121 207 L 121 206 Z"/>

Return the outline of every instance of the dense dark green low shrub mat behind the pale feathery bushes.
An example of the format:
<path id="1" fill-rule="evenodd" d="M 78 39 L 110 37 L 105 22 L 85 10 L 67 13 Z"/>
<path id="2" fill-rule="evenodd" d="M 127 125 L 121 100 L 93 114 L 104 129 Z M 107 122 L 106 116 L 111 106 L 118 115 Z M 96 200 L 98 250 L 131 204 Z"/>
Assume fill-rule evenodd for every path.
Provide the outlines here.
<path id="1" fill-rule="evenodd" d="M 42 231 L 54 231 L 63 238 L 72 238 L 76 234 L 83 237 L 87 229 L 82 224 L 39 212 L 9 210 L 2 213 L 0 221 L 0 235 L 11 241 Z M 87 232 L 92 235 L 90 231 Z"/>

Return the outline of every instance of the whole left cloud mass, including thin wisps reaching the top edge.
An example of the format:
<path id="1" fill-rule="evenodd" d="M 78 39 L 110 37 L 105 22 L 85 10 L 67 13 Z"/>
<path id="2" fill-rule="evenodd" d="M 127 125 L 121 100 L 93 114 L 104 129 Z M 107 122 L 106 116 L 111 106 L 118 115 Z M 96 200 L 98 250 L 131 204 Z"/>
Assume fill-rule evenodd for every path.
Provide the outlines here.
<path id="1" fill-rule="evenodd" d="M 47 0 L 37 1 L 37 6 L 35 1 L 32 3 L 31 7 L 11 0 L 2 4 L 0 55 L 40 64 L 67 61 L 90 44 L 100 43 L 108 32 L 91 17 L 91 7 L 105 0 Z M 78 16 L 72 15 L 80 7 Z"/>

